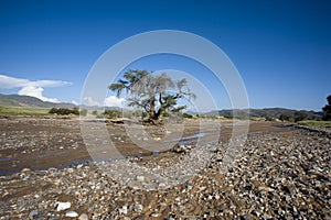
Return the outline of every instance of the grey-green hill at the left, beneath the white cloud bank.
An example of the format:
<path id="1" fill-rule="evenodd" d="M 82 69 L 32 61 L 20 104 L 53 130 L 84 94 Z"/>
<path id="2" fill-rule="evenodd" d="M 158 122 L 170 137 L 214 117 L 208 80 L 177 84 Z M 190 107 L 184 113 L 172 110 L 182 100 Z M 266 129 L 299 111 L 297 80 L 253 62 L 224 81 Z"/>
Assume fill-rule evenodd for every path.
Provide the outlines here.
<path id="1" fill-rule="evenodd" d="M 54 103 L 42 101 L 35 97 L 19 95 L 1 95 L 0 106 L 7 107 L 33 107 L 33 108 L 74 108 L 73 103 Z"/>

